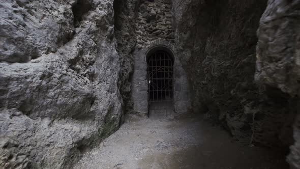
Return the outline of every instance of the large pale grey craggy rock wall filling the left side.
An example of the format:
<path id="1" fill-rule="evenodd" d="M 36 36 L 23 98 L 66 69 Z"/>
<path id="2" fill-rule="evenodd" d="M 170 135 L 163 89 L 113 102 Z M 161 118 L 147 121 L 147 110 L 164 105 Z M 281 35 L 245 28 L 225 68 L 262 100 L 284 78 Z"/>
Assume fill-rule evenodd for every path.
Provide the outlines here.
<path id="1" fill-rule="evenodd" d="M 0 4 L 0 168 L 70 168 L 122 123 L 113 1 Z"/>

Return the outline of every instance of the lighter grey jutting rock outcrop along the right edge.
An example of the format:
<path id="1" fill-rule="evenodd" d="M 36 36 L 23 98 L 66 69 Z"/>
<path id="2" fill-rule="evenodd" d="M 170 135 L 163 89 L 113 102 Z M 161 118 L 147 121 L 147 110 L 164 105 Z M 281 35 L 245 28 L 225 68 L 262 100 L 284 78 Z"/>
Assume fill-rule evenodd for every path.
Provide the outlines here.
<path id="1" fill-rule="evenodd" d="M 290 167 L 300 168 L 300 1 L 269 0 L 257 32 L 256 80 L 288 94 L 294 118 Z"/>

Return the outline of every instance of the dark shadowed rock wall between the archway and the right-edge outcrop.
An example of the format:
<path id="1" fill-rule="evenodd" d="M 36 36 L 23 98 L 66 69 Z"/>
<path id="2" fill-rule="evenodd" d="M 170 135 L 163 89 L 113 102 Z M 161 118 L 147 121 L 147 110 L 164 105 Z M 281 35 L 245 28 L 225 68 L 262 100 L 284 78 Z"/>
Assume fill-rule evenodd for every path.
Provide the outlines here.
<path id="1" fill-rule="evenodd" d="M 287 94 L 260 89 L 254 80 L 256 32 L 266 6 L 173 0 L 175 46 L 191 81 L 195 112 L 207 112 L 245 144 L 288 149 L 294 114 Z"/>

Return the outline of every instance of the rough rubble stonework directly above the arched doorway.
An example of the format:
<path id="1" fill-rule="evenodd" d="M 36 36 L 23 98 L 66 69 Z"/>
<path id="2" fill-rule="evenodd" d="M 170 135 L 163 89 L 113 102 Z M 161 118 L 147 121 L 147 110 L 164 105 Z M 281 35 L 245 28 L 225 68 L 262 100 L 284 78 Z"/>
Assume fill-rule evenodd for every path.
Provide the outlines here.
<path id="1" fill-rule="evenodd" d="M 138 49 L 157 40 L 174 41 L 171 9 L 170 0 L 140 2 L 135 23 Z"/>

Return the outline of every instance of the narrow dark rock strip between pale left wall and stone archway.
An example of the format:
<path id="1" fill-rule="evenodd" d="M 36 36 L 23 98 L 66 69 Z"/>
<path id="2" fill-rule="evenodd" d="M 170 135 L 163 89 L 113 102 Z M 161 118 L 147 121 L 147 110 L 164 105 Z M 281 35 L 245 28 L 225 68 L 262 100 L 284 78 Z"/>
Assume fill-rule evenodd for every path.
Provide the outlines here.
<path id="1" fill-rule="evenodd" d="M 132 53 L 136 45 L 135 22 L 138 4 L 137 0 L 115 0 L 113 2 L 116 50 L 121 57 L 118 87 L 124 101 L 125 112 L 132 112 L 133 107 L 130 78 L 134 65 Z"/>

